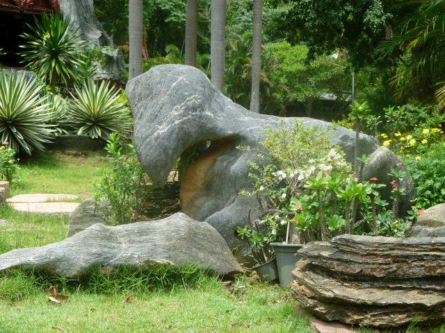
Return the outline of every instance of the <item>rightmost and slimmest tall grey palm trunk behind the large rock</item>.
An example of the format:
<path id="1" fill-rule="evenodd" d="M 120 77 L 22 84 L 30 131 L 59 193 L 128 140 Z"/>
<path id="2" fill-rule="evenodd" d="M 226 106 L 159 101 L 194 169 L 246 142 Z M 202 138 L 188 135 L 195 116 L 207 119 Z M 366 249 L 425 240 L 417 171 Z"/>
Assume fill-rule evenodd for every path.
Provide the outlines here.
<path id="1" fill-rule="evenodd" d="M 250 92 L 250 111 L 259 113 L 259 83 L 261 80 L 261 26 L 263 21 L 263 0 L 253 0 L 253 37 L 252 37 L 252 89 Z"/>

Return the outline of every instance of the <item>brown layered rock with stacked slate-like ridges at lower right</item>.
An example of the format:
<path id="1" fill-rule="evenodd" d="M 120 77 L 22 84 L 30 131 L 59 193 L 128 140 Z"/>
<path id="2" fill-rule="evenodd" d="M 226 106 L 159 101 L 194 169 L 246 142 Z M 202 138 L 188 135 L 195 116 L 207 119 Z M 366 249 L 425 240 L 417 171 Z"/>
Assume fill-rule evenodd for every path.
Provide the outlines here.
<path id="1" fill-rule="evenodd" d="M 397 327 L 445 320 L 445 238 L 353 236 L 298 251 L 293 297 L 316 316 Z"/>

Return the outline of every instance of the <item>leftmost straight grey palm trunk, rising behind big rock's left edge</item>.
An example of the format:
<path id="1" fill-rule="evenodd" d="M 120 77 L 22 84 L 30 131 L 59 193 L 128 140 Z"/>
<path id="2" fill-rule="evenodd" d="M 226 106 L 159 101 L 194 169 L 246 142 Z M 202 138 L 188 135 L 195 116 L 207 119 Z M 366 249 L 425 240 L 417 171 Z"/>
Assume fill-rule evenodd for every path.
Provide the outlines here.
<path id="1" fill-rule="evenodd" d="M 129 78 L 142 74 L 143 0 L 129 0 Z"/>

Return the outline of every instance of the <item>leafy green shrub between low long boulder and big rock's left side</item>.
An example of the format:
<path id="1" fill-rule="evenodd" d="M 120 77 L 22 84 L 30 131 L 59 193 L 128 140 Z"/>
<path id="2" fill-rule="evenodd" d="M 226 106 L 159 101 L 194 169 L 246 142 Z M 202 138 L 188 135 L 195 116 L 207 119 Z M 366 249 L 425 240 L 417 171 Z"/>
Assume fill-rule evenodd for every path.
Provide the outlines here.
<path id="1" fill-rule="evenodd" d="M 143 204 L 153 187 L 138 161 L 132 144 L 123 153 L 120 136 L 112 133 L 106 151 L 110 155 L 111 171 L 103 171 L 102 179 L 95 184 L 97 212 L 113 225 L 138 221 Z"/>

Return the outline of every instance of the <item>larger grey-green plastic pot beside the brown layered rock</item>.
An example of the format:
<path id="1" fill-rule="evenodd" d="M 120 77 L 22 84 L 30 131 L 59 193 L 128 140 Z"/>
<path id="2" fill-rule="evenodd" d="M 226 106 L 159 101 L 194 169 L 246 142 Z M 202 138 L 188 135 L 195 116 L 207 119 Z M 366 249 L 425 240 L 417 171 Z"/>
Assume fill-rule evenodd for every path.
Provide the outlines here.
<path id="1" fill-rule="evenodd" d="M 282 244 L 272 243 L 277 257 L 278 276 L 280 278 L 280 286 L 283 288 L 291 287 L 293 282 L 292 271 L 296 268 L 298 257 L 296 253 L 304 244 Z"/>

